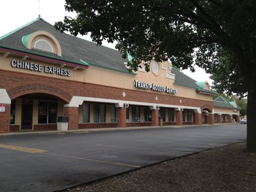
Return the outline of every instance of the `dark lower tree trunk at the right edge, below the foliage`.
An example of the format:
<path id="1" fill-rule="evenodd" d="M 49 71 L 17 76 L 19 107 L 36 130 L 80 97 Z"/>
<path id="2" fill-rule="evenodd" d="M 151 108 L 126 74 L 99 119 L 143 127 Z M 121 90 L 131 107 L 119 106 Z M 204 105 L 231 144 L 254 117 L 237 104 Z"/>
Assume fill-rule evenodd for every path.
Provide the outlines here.
<path id="1" fill-rule="evenodd" d="M 246 148 L 250 153 L 256 153 L 256 84 L 249 88 L 247 96 L 247 140 Z"/>

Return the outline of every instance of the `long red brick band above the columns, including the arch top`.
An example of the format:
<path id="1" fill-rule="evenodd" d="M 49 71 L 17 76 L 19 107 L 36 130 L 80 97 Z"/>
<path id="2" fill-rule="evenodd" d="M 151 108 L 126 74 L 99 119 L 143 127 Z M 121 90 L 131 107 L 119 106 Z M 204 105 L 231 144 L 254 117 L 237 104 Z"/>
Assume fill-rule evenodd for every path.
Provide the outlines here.
<path id="1" fill-rule="evenodd" d="M 8 79 L 8 81 L 6 81 L 6 79 Z M 141 90 L 127 90 L 92 83 L 84 83 L 66 79 L 62 80 L 4 70 L 1 71 L 0 87 L 7 90 L 7 93 L 11 99 L 29 93 L 48 93 L 62 99 L 65 103 L 69 103 L 72 96 L 75 95 L 173 105 L 180 105 L 180 99 L 182 99 L 182 105 L 184 106 L 196 106 L 201 108 L 203 105 L 205 105 L 211 109 L 214 107 L 213 101 L 176 97 L 167 93 L 159 94 L 156 92 L 146 93 L 145 97 L 145 92 Z M 125 97 L 122 96 L 123 92 L 126 94 Z M 157 101 L 156 96 L 158 97 Z"/>

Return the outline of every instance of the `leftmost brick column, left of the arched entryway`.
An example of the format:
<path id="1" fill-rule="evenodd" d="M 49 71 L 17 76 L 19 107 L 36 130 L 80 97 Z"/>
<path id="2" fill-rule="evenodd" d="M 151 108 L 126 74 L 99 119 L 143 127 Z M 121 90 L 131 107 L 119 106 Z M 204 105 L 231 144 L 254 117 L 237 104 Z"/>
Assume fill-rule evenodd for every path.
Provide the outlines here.
<path id="1" fill-rule="evenodd" d="M 5 105 L 5 112 L 0 112 L 0 133 L 9 133 L 11 104 L 4 104 L 4 105 Z"/>

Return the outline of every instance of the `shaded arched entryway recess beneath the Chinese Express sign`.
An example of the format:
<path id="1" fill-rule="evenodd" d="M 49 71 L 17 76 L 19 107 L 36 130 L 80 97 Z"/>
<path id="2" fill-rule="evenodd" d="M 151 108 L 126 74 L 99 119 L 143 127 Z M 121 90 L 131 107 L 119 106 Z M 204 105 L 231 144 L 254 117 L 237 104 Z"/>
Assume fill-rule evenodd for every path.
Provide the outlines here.
<path id="1" fill-rule="evenodd" d="M 57 117 L 63 116 L 66 103 L 47 93 L 20 95 L 11 100 L 10 131 L 57 130 Z"/>

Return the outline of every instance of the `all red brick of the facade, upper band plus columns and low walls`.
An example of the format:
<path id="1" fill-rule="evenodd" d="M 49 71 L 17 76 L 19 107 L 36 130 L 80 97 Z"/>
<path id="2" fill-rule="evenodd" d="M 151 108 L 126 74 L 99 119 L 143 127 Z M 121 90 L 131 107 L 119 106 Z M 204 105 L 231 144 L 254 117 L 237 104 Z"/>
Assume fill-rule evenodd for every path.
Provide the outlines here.
<path id="1" fill-rule="evenodd" d="M 8 81 L 6 81 L 8 79 Z M 78 81 L 72 81 L 67 79 L 50 78 L 39 75 L 32 75 L 26 73 L 17 73 L 12 71 L 1 70 L 0 86 L 2 89 L 6 89 L 11 99 L 17 98 L 22 95 L 31 93 L 46 93 L 57 97 L 59 100 L 68 104 L 71 101 L 72 96 L 94 97 L 104 99 L 116 99 L 125 101 L 137 101 L 147 103 L 160 103 L 160 104 L 172 104 L 180 105 L 180 99 L 182 99 L 182 105 L 194 106 L 201 109 L 212 110 L 214 108 L 214 102 L 204 101 L 197 99 L 190 99 L 184 97 L 177 97 L 170 94 L 160 94 L 157 92 L 145 92 L 141 90 L 128 90 L 122 88 L 115 88 L 109 86 L 101 86 L 99 84 L 84 83 Z M 122 93 L 125 92 L 125 97 Z M 156 96 L 158 100 L 156 101 Z M 89 123 L 78 124 L 78 108 L 77 107 L 65 107 L 64 114 L 69 117 L 69 130 L 83 129 L 87 127 L 109 127 L 109 126 L 153 126 L 159 125 L 159 110 L 152 110 L 152 122 L 151 123 L 126 123 L 126 108 L 118 108 L 118 123 Z M 6 104 L 6 112 L 0 114 L 0 119 L 3 123 L 0 125 L 0 132 L 5 133 L 10 131 L 10 105 Z M 193 122 L 186 122 L 184 124 L 191 124 Z M 201 124 L 201 115 L 194 114 L 194 123 Z M 176 111 L 176 122 L 164 122 L 164 125 L 182 125 L 182 111 Z M 14 127 L 13 127 L 14 129 Z M 17 130 L 17 126 L 15 129 Z M 56 130 L 56 125 L 42 126 L 34 125 L 34 130 Z"/>

